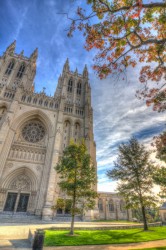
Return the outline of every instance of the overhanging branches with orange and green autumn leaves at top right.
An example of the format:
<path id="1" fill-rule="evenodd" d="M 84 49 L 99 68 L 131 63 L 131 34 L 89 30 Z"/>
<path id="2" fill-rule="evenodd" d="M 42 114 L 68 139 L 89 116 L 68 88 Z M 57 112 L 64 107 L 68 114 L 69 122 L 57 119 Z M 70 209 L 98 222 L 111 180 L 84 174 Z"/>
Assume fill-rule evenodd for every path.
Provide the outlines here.
<path id="1" fill-rule="evenodd" d="M 68 36 L 76 29 L 85 36 L 86 50 L 95 49 L 94 69 L 100 78 L 126 73 L 143 63 L 139 98 L 154 110 L 166 109 L 166 2 L 164 0 L 87 0 L 91 12 L 81 7 L 71 20 Z M 123 75 L 124 77 L 124 75 Z M 154 81 L 156 87 L 149 86 Z"/>

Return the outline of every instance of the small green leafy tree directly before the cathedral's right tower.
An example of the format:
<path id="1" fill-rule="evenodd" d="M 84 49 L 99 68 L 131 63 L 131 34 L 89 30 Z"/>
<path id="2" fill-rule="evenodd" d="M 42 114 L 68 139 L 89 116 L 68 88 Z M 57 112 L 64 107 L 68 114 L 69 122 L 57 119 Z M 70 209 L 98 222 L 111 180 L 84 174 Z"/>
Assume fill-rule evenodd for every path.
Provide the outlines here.
<path id="1" fill-rule="evenodd" d="M 70 235 L 73 235 L 75 215 L 93 209 L 97 197 L 94 190 L 96 171 L 84 142 L 71 142 L 55 169 L 59 174 L 62 191 L 71 199 Z"/>

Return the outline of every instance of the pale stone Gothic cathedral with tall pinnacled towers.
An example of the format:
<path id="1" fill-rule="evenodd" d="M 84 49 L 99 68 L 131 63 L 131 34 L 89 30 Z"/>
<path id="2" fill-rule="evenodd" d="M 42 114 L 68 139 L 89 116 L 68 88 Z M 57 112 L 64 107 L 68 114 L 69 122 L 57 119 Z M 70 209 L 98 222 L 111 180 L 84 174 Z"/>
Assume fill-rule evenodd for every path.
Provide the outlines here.
<path id="1" fill-rule="evenodd" d="M 0 57 L 0 213 L 50 220 L 58 216 L 52 207 L 64 195 L 55 166 L 71 138 L 85 139 L 97 171 L 88 70 L 72 72 L 67 59 L 54 95 L 36 93 L 38 51 L 26 57 L 15 46 L 14 41 Z M 115 193 L 99 193 L 97 203 L 85 219 L 131 217 Z"/>

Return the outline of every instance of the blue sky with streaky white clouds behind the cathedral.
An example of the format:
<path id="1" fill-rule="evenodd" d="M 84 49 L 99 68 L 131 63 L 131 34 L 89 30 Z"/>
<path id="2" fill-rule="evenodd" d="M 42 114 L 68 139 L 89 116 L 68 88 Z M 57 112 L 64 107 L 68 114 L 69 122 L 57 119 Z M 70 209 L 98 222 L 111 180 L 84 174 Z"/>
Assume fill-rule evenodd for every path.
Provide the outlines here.
<path id="1" fill-rule="evenodd" d="M 16 52 L 25 56 L 38 48 L 35 89 L 46 88 L 53 95 L 66 58 L 70 69 L 89 69 L 94 110 L 94 137 L 97 145 L 98 191 L 113 192 L 117 183 L 106 171 L 114 166 L 120 143 L 136 137 L 149 148 L 153 136 L 165 129 L 166 115 L 152 111 L 135 97 L 141 87 L 138 68 L 128 70 L 128 81 L 116 82 L 111 76 L 100 80 L 92 70 L 94 51 L 84 49 L 84 38 L 76 32 L 67 37 L 69 20 L 79 4 L 73 0 L 0 0 L 0 55 L 17 41 Z"/>

